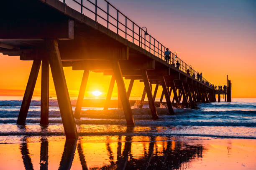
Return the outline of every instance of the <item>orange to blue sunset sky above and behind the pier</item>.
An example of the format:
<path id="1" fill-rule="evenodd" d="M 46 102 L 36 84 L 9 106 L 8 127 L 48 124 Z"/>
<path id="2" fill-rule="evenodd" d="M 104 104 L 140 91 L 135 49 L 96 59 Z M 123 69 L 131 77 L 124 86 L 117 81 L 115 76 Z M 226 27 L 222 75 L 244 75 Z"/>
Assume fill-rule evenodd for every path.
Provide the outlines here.
<path id="1" fill-rule="evenodd" d="M 155 37 L 178 57 L 216 85 L 232 82 L 232 97 L 256 97 L 255 0 L 109 0 L 116 8 Z M 0 96 L 24 94 L 31 61 L 0 54 Z M 82 71 L 64 68 L 70 96 L 77 96 Z M 85 96 L 99 90 L 106 95 L 110 76 L 90 72 Z M 40 96 L 39 74 L 34 96 Z M 128 87 L 129 81 L 125 80 Z M 153 86 L 154 89 L 154 86 Z M 131 97 L 141 96 L 136 81 Z M 50 78 L 50 96 L 54 96 Z M 159 90 L 157 96 L 161 95 Z M 113 96 L 117 96 L 115 85 Z"/>

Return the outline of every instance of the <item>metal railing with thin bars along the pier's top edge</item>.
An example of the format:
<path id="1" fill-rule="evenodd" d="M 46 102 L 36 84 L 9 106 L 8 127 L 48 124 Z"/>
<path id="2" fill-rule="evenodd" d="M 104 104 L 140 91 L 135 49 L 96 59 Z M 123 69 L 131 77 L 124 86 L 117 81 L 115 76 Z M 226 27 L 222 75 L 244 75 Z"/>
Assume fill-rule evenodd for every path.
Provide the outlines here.
<path id="1" fill-rule="evenodd" d="M 74 10 L 79 11 L 81 14 L 95 20 L 96 22 L 104 25 L 106 28 L 112 30 L 125 39 L 133 42 L 139 47 L 147 50 L 156 57 L 164 60 L 164 52 L 166 47 L 158 40 L 148 34 L 145 27 L 140 27 L 134 23 L 130 18 L 120 12 L 107 0 L 60 0 L 61 2 L 72 7 Z M 144 29 L 145 28 L 145 29 Z M 214 86 L 204 77 L 197 78 L 197 71 L 190 65 L 187 65 L 183 60 L 177 57 L 176 52 L 171 52 L 170 60 L 168 63 L 173 67 L 177 67 L 179 62 L 179 70 L 189 74 L 208 86 Z"/>

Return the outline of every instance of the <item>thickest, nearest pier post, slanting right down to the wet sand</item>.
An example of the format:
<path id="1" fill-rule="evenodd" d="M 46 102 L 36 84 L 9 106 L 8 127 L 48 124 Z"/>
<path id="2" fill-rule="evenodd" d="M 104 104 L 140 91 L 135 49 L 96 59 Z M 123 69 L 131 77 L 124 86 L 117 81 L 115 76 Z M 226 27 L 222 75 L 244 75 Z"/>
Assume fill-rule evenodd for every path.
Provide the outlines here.
<path id="1" fill-rule="evenodd" d="M 77 139 L 77 127 L 70 102 L 69 91 L 62 67 L 57 40 L 46 41 L 46 52 L 51 67 L 56 95 L 66 138 Z"/>

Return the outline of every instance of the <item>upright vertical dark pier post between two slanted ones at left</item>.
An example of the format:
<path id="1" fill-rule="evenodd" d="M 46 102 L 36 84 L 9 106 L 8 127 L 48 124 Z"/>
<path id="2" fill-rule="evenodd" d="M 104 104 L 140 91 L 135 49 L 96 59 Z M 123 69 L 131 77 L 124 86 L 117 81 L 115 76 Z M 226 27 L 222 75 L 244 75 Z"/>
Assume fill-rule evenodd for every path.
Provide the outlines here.
<path id="1" fill-rule="evenodd" d="M 42 61 L 41 79 L 41 125 L 49 124 L 49 61 Z"/>

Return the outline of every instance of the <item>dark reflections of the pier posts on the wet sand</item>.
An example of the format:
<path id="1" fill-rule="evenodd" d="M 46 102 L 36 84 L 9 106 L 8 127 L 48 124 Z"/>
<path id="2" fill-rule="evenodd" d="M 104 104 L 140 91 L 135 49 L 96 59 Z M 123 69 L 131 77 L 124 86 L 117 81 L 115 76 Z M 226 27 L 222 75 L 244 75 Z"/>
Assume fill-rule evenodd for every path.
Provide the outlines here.
<path id="1" fill-rule="evenodd" d="M 108 137 L 105 137 L 108 141 Z M 111 143 L 105 143 L 105 151 L 107 151 L 108 165 L 88 167 L 85 150 L 81 145 L 82 140 L 66 140 L 64 150 L 59 163 L 59 170 L 70 170 L 75 154 L 78 155 L 82 170 L 88 169 L 117 169 L 117 170 L 132 170 L 132 169 L 180 169 L 188 168 L 190 160 L 195 160 L 202 157 L 204 150 L 201 145 L 186 145 L 182 141 L 170 140 L 168 137 L 145 137 L 150 139 L 143 142 L 139 154 L 136 147 L 133 148 L 133 136 L 118 136 L 117 148 L 111 148 Z M 125 139 L 125 142 L 122 141 Z M 161 141 L 159 141 L 161 140 Z M 25 137 L 24 143 L 20 144 L 20 152 L 24 167 L 26 170 L 33 170 L 32 160 L 29 154 L 28 140 Z M 138 143 L 138 142 L 134 142 Z M 40 147 L 40 170 L 48 169 L 48 147 L 47 138 L 41 138 Z M 99 148 L 91 148 L 97 153 L 103 153 Z M 77 150 L 77 152 L 76 152 Z M 116 153 L 113 152 L 116 150 Z M 61 152 L 61 150 L 60 150 Z M 132 153 L 135 153 L 134 155 Z M 97 157 L 97 155 L 95 155 Z M 99 155 L 98 155 L 99 156 Z M 88 156 L 87 156 L 88 158 Z M 90 160 L 89 160 L 90 161 Z"/>

